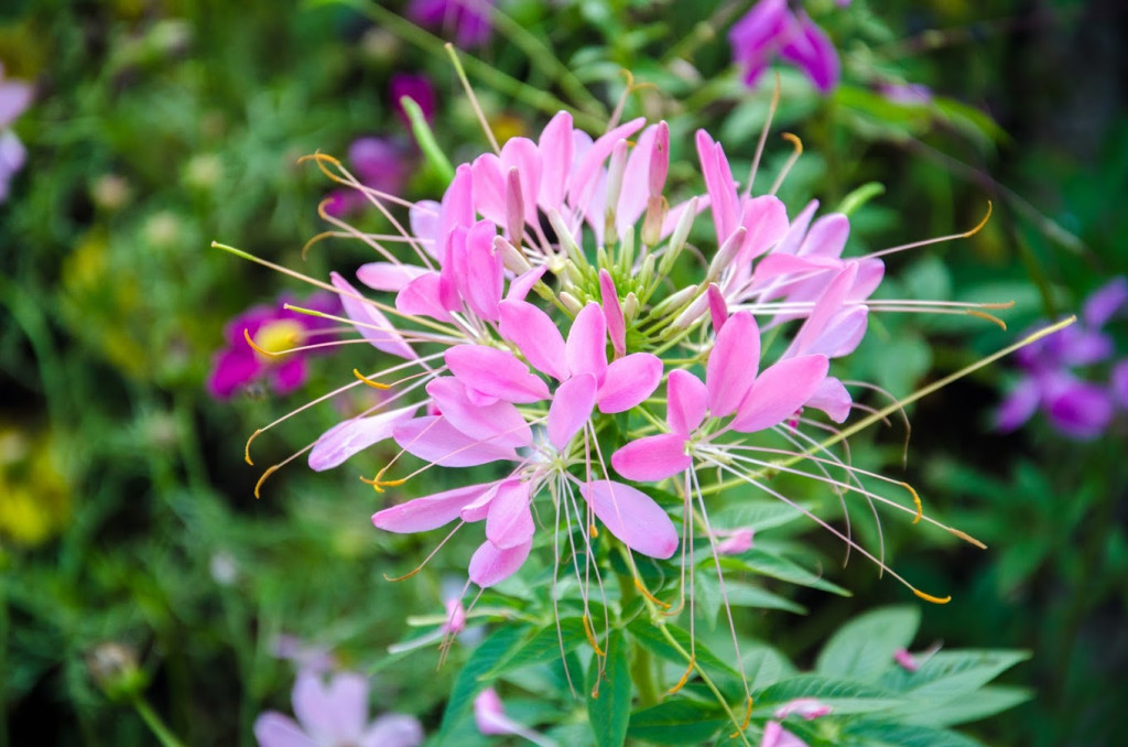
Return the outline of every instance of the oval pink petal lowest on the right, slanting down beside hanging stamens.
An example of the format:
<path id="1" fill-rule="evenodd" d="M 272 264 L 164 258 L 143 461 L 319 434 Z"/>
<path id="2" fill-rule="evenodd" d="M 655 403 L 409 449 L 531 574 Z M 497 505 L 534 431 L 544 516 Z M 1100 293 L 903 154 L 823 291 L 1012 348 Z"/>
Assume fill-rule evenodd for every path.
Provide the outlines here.
<path id="1" fill-rule="evenodd" d="M 678 531 L 654 500 L 629 485 L 600 480 L 580 486 L 591 510 L 627 547 L 666 559 L 678 548 Z"/>

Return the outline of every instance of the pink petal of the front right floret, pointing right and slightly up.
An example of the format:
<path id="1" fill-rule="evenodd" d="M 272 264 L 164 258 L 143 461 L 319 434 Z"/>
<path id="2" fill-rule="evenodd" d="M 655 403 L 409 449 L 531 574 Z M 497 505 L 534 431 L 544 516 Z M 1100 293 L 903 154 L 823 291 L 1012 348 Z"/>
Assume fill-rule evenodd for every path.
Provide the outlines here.
<path id="1" fill-rule="evenodd" d="M 765 369 L 740 404 L 732 429 L 754 433 L 778 425 L 811 398 L 827 378 L 829 366 L 826 355 L 803 355 Z"/>

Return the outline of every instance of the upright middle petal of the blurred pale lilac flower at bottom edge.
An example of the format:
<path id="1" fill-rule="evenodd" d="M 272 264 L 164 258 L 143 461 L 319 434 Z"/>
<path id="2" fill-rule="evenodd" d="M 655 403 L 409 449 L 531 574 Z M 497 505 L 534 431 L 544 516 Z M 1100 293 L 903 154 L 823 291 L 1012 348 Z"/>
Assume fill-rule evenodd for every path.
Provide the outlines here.
<path id="1" fill-rule="evenodd" d="M 318 741 L 355 741 L 368 720 L 368 679 L 341 673 L 324 685 L 320 675 L 299 673 L 293 685 L 293 712 Z"/>

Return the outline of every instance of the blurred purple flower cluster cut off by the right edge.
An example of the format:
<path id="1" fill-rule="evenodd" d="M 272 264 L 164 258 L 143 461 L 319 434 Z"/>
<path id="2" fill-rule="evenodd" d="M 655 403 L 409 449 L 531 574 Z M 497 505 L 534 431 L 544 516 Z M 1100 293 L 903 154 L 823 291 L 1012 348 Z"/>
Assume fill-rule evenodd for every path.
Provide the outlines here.
<path id="1" fill-rule="evenodd" d="M 1112 357 L 1114 343 L 1102 327 L 1126 304 L 1128 280 L 1114 278 L 1090 296 L 1076 324 L 1020 350 L 1023 376 L 999 405 L 996 427 L 1013 431 L 1041 410 L 1064 436 L 1081 440 L 1100 436 L 1112 420 L 1128 375 L 1118 366 L 1111 384 L 1102 385 L 1078 377 L 1074 369 Z"/>

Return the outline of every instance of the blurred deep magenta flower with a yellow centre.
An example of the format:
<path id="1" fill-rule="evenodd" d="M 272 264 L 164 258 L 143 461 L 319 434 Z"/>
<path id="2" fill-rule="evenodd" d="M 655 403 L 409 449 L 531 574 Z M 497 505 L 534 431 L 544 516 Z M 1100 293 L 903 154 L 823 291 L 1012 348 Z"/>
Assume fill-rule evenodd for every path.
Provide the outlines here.
<path id="1" fill-rule="evenodd" d="M 274 392 L 289 394 L 306 381 L 306 358 L 309 351 L 284 355 L 265 355 L 247 343 L 276 352 L 308 344 L 308 337 L 334 322 L 284 308 L 293 299 L 283 297 L 274 306 L 255 306 L 236 316 L 223 328 L 227 346 L 215 353 L 208 377 L 208 392 L 217 399 L 227 399 L 243 387 L 267 379 Z M 332 293 L 315 293 L 298 304 L 325 314 L 340 314 L 341 304 Z M 315 341 L 316 342 L 316 341 Z"/>

